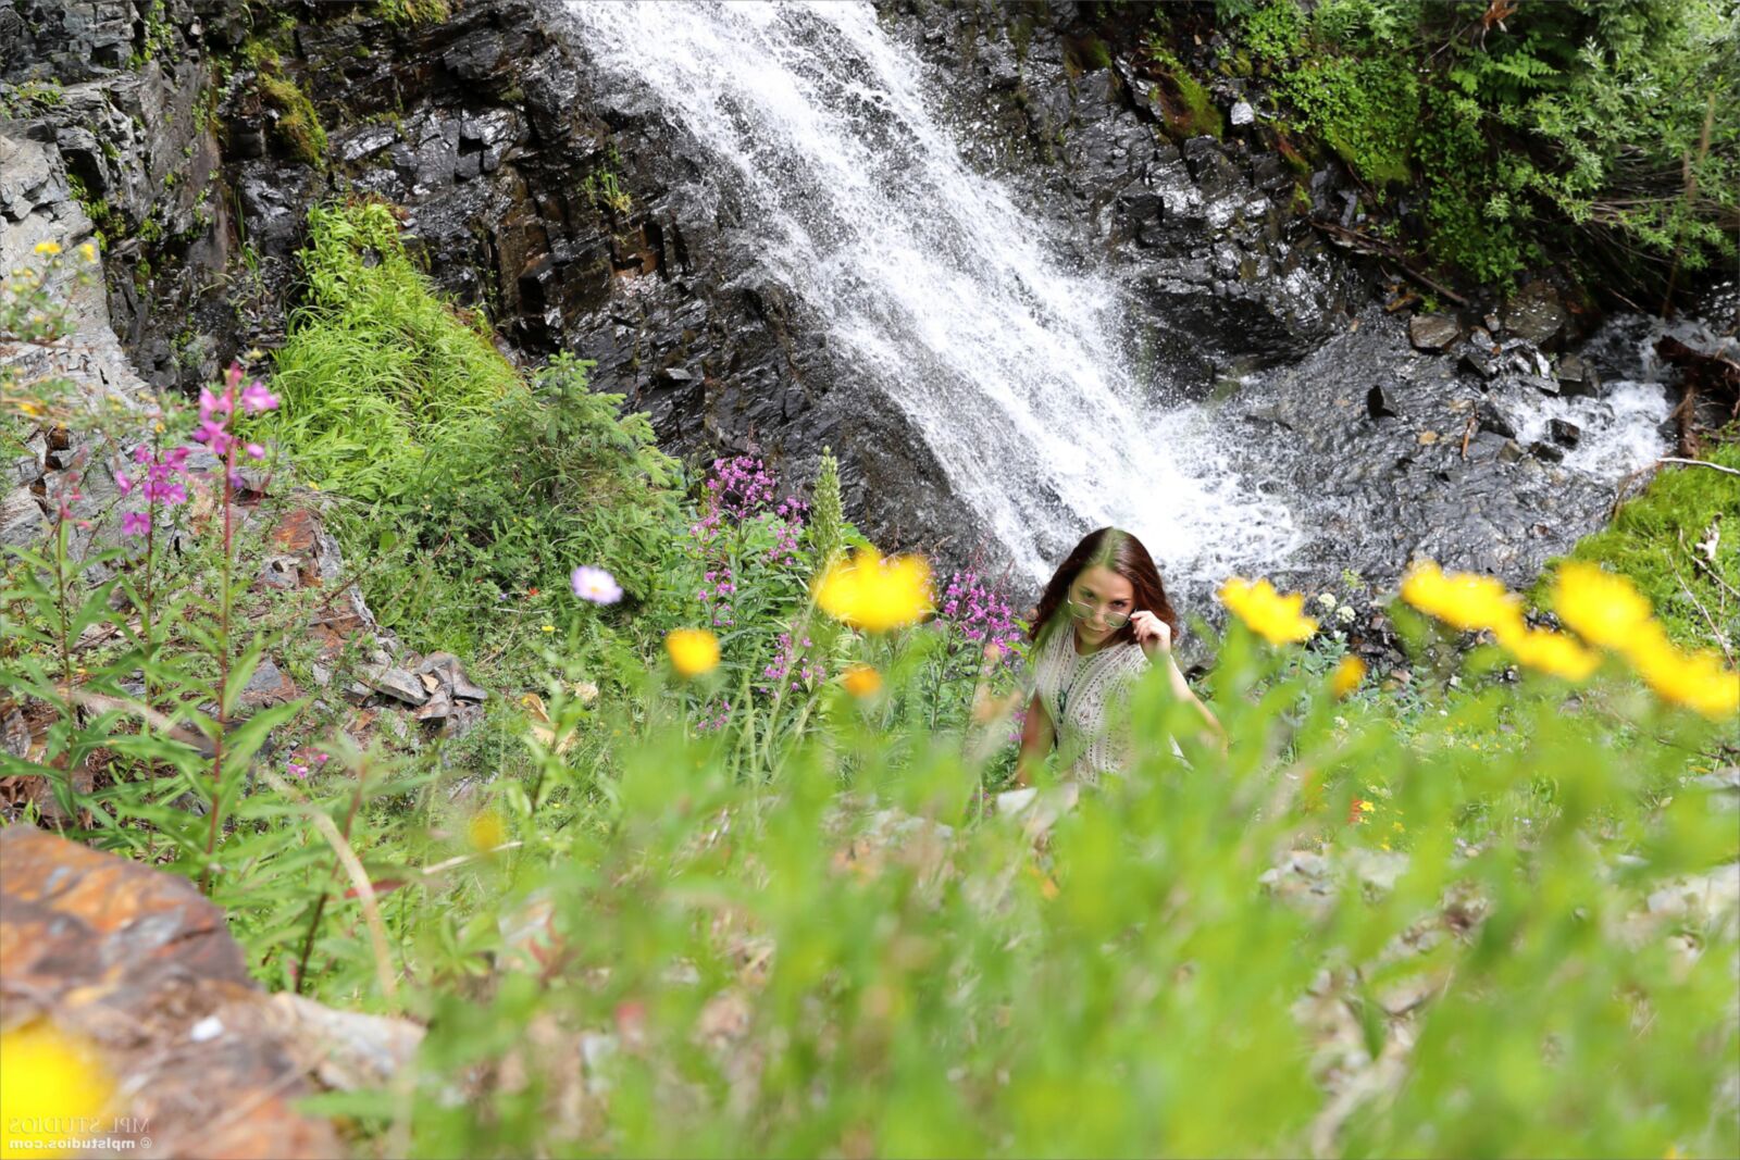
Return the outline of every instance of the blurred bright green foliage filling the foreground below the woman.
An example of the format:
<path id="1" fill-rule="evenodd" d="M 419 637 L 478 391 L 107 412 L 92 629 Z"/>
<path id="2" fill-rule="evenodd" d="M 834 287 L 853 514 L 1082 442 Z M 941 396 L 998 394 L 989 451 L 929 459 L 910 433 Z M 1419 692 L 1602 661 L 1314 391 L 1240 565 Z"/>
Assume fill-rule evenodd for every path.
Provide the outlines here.
<path id="1" fill-rule="evenodd" d="M 839 647 L 910 696 L 927 631 Z M 412 1151 L 1719 1150 L 1733 923 L 1641 918 L 1735 854 L 1705 793 L 1656 793 L 1710 727 L 1477 682 L 1397 729 L 1317 668 L 1235 631 L 1230 748 L 1194 767 L 1141 689 L 1143 757 L 1041 843 L 980 812 L 959 725 L 840 689 L 769 781 L 656 673 L 618 715 L 553 701 L 538 791 L 496 797 L 525 845 L 393 920 L 430 1019 Z M 560 755 L 609 732 L 604 779 Z"/>

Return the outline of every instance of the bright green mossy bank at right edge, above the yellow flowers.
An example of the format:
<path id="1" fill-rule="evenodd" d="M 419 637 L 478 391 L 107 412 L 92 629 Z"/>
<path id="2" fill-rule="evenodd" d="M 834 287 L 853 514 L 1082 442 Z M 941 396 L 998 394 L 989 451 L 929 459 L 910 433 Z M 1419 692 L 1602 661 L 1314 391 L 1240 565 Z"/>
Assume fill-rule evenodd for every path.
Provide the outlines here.
<path id="1" fill-rule="evenodd" d="M 1709 463 L 1740 470 L 1740 442 L 1716 447 Z M 1740 591 L 1737 513 L 1740 478 L 1710 468 L 1663 466 L 1641 496 L 1625 503 L 1606 529 L 1583 537 L 1568 558 L 1590 560 L 1636 581 L 1681 645 L 1710 647 L 1710 621 L 1735 643 L 1740 638 L 1740 598 L 1733 595 Z M 1716 555 L 1702 557 L 1703 567 L 1695 553 L 1712 529 L 1719 532 Z M 1543 603 L 1545 586 L 1536 584 L 1531 597 Z"/>

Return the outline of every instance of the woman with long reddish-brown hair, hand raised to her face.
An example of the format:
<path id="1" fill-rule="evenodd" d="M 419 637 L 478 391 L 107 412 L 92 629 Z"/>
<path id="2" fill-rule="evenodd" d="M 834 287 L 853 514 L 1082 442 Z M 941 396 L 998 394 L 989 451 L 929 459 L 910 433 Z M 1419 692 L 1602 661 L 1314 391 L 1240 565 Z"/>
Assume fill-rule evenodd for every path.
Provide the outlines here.
<path id="1" fill-rule="evenodd" d="M 1190 692 L 1173 661 L 1178 614 L 1154 558 L 1129 532 L 1089 532 L 1058 565 L 1039 598 L 1032 685 L 1016 783 L 1028 786 L 1053 744 L 1068 762 L 1065 779 L 1094 784 L 1128 762 L 1129 739 L 1107 722 L 1129 685 L 1150 664 L 1164 664 L 1173 692 L 1202 715 L 1218 737 L 1220 722 Z"/>

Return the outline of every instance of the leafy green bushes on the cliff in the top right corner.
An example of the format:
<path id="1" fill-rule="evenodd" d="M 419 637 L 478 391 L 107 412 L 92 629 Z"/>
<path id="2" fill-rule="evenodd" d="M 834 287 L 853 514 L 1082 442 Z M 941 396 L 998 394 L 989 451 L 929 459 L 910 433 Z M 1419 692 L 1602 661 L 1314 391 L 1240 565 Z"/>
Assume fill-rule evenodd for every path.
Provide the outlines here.
<path id="1" fill-rule="evenodd" d="M 1234 12 L 1232 7 L 1239 10 Z M 1303 125 L 1425 191 L 1427 256 L 1507 285 L 1569 254 L 1658 289 L 1735 254 L 1740 26 L 1721 0 L 1227 5 Z"/>

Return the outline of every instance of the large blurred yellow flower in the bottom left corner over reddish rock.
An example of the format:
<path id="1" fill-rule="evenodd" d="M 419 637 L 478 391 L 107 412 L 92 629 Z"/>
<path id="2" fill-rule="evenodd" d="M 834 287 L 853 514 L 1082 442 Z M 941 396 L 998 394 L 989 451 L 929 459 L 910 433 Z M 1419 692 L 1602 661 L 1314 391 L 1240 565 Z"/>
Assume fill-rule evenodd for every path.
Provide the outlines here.
<path id="1" fill-rule="evenodd" d="M 96 1047 L 47 1021 L 0 1035 L 0 1157 L 70 1157 L 70 1120 L 96 1120 L 115 1082 Z"/>

